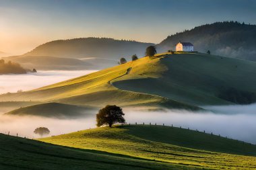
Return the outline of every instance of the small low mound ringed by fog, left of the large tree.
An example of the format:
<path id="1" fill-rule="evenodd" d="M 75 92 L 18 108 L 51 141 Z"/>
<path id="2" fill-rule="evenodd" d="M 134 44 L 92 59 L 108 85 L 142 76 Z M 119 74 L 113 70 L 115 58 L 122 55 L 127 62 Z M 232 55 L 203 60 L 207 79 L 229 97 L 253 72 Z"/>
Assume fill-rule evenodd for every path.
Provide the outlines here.
<path id="1" fill-rule="evenodd" d="M 95 113 L 96 109 L 92 107 L 82 107 L 63 103 L 43 103 L 12 110 L 6 114 L 19 116 L 44 116 L 52 118 L 79 118 L 80 116 L 90 116 Z"/>

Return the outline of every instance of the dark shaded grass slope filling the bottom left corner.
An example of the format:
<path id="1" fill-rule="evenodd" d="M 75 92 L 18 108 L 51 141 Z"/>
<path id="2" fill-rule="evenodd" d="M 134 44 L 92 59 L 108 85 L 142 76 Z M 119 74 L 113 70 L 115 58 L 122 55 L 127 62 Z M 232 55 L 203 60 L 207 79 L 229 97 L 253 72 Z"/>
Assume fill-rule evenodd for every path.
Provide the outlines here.
<path id="1" fill-rule="evenodd" d="M 0 134 L 0 169 L 199 169 Z"/>

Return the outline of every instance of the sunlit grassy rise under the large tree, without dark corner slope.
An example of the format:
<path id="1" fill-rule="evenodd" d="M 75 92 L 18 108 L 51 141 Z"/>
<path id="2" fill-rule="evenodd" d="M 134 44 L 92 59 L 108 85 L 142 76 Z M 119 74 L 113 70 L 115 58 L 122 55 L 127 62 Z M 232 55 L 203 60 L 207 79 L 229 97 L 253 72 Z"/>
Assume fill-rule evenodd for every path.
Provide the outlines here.
<path id="1" fill-rule="evenodd" d="M 39 140 L 199 169 L 256 167 L 255 145 L 167 126 L 94 128 Z"/>

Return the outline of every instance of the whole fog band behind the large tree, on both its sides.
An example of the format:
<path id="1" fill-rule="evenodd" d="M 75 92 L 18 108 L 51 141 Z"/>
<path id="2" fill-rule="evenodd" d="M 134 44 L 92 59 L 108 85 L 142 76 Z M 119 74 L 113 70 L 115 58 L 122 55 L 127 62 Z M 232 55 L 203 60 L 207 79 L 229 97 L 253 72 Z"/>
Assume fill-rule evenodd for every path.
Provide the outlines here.
<path id="1" fill-rule="evenodd" d="M 256 105 L 209 106 L 210 112 L 189 112 L 185 110 L 168 110 L 166 112 L 146 112 L 124 109 L 127 124 L 150 124 L 190 128 L 207 133 L 213 132 L 228 138 L 244 140 L 256 144 Z M 95 113 L 96 114 L 96 113 Z M 96 127 L 96 116 L 73 120 L 39 118 L 36 116 L 1 116 L 0 132 L 11 135 L 38 138 L 33 134 L 35 128 L 44 126 L 51 130 L 51 135 L 66 134 L 77 130 Z"/>

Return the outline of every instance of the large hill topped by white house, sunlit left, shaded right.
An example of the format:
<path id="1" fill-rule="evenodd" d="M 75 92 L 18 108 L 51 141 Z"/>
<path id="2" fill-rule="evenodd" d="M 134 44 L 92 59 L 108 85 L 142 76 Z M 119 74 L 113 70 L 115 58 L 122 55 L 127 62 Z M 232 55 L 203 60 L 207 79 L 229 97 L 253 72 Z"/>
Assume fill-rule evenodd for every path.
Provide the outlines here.
<path id="1" fill-rule="evenodd" d="M 196 110 L 255 102 L 255 73 L 256 62 L 247 60 L 164 53 L 32 91 L 0 95 L 0 100 Z"/>

